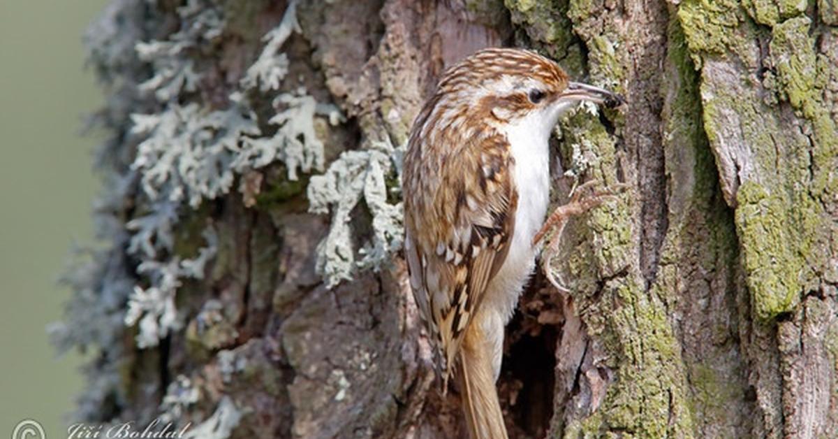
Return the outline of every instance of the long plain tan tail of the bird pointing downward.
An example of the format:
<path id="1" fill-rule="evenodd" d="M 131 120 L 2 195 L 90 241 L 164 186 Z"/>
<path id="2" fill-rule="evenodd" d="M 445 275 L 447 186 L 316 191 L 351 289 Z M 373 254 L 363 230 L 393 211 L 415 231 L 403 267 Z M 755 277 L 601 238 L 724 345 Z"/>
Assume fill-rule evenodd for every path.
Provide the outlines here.
<path id="1" fill-rule="evenodd" d="M 494 387 L 489 350 L 480 325 L 472 322 L 460 347 L 456 373 L 463 414 L 472 439 L 508 439 L 498 391 Z"/>

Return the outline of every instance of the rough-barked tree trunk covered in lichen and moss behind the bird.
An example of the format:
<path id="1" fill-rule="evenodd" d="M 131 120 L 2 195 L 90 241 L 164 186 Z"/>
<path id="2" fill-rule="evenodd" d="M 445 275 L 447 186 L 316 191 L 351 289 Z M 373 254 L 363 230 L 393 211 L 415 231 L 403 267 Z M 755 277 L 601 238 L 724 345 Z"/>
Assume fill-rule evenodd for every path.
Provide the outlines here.
<path id="1" fill-rule="evenodd" d="M 442 71 L 521 46 L 628 106 L 556 130 L 574 220 L 507 329 L 512 437 L 838 431 L 838 5 L 114 0 L 87 35 L 102 245 L 54 327 L 78 421 L 461 437 L 406 282 L 401 153 Z"/>

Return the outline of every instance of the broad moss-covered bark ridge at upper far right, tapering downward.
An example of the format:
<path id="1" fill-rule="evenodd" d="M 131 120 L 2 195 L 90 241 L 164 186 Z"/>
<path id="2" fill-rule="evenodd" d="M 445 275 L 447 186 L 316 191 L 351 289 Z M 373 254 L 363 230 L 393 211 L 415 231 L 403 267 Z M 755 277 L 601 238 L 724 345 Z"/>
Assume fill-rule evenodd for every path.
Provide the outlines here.
<path id="1" fill-rule="evenodd" d="M 753 314 L 763 322 L 794 311 L 813 270 L 823 269 L 828 233 L 816 200 L 836 186 L 825 171 L 838 150 L 823 98 L 832 67 L 815 51 L 810 18 L 799 16 L 805 6 L 690 0 L 678 10 L 703 66 L 704 128 L 726 199 L 737 207 Z M 765 44 L 768 56 L 757 58 Z"/>

